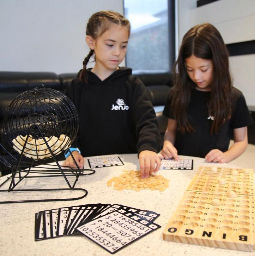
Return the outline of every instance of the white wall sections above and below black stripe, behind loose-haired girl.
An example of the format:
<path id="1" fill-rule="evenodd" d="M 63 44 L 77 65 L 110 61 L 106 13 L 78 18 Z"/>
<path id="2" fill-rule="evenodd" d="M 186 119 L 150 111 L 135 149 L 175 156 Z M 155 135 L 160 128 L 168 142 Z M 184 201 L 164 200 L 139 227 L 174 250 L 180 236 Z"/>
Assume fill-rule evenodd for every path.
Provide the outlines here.
<path id="1" fill-rule="evenodd" d="M 220 0 L 196 8 L 196 0 L 178 0 L 179 44 L 196 24 L 212 23 L 225 43 L 255 40 L 255 1 Z M 234 86 L 240 89 L 250 109 L 255 108 L 255 54 L 230 57 Z"/>

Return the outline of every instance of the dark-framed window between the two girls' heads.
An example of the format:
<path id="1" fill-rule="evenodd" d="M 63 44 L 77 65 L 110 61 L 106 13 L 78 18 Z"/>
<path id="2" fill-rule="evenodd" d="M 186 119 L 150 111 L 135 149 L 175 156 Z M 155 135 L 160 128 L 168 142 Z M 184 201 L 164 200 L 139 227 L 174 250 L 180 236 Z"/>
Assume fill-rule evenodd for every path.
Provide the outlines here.
<path id="1" fill-rule="evenodd" d="M 168 72 L 175 60 L 174 0 L 124 0 L 131 23 L 126 64 L 134 74 Z"/>

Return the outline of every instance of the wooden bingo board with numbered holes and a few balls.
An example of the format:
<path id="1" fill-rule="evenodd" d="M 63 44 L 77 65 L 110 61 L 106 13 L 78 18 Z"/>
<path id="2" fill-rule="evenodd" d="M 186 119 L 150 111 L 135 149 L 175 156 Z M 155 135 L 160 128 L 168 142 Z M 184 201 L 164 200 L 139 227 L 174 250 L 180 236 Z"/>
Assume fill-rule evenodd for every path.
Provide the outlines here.
<path id="1" fill-rule="evenodd" d="M 253 177 L 253 169 L 199 167 L 163 239 L 254 251 Z"/>

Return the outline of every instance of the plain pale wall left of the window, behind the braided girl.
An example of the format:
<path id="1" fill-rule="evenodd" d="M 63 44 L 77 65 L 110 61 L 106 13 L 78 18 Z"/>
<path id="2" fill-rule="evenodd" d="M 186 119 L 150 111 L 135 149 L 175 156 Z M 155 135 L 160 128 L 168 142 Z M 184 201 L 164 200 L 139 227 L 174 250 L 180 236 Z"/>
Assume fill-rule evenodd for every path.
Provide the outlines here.
<path id="1" fill-rule="evenodd" d="M 0 10 L 0 70 L 60 74 L 82 68 L 89 17 L 101 10 L 123 14 L 123 1 L 1 0 Z"/>

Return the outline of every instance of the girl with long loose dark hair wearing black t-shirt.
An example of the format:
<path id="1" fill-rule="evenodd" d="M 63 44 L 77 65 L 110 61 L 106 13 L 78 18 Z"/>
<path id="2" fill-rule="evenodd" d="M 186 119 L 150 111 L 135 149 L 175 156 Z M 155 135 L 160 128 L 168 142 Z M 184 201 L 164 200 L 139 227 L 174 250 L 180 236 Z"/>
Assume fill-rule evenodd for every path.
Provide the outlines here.
<path id="1" fill-rule="evenodd" d="M 179 154 L 226 163 L 240 156 L 253 120 L 242 92 L 232 86 L 228 52 L 212 24 L 196 25 L 184 35 L 173 72 L 160 158 L 178 160 Z"/>

